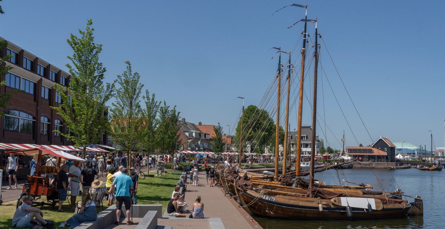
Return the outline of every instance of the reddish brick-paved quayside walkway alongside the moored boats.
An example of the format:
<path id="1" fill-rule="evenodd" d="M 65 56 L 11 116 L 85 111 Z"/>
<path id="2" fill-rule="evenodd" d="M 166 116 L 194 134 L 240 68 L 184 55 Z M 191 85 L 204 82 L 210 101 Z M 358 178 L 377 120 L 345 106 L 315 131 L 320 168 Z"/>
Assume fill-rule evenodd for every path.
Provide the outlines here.
<path id="1" fill-rule="evenodd" d="M 206 182 L 206 175 L 204 172 L 198 174 L 199 184 L 198 186 L 187 186 L 190 192 L 186 192 L 185 201 L 187 202 L 187 210 L 191 213 L 192 204 L 195 202 L 196 196 L 201 196 L 201 202 L 204 204 L 204 217 L 221 218 L 226 229 L 249 229 L 249 228 L 261 228 L 257 223 L 251 222 L 251 217 L 242 208 L 238 208 L 239 204 L 235 200 L 225 197 L 223 188 L 210 187 Z M 188 180 L 187 180 L 188 181 Z M 210 180 L 209 180 L 210 181 Z M 188 217 L 189 214 L 186 214 Z M 166 220 L 167 222 L 170 221 Z M 180 221 L 179 219 L 177 221 Z M 189 221 L 190 220 L 185 220 Z M 166 225 L 172 225 L 167 223 Z M 196 223 L 199 220 L 193 220 L 190 223 Z M 185 226 L 187 222 L 184 222 Z M 208 222 L 207 222 L 208 223 Z M 174 228 L 179 228 L 175 227 Z M 180 227 L 181 229 L 183 227 Z"/>

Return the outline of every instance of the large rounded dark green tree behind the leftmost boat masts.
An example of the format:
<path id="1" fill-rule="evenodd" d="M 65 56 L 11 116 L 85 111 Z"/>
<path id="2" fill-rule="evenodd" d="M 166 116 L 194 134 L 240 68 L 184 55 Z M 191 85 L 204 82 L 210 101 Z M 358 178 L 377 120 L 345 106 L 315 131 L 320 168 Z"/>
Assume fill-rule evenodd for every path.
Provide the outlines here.
<path id="1" fill-rule="evenodd" d="M 242 117 L 239 118 L 235 129 L 236 142 L 232 142 L 235 143 L 236 148 L 239 148 L 241 118 Z M 274 120 L 269 117 L 267 110 L 258 109 L 258 107 L 254 105 L 247 106 L 246 109 L 244 109 L 243 145 L 250 142 L 250 151 L 253 149 L 256 153 L 262 154 L 270 144 L 272 136 L 275 136 L 275 124 Z M 244 147 L 245 146 L 243 146 L 243 148 Z M 243 151 L 245 150 L 243 149 Z"/>

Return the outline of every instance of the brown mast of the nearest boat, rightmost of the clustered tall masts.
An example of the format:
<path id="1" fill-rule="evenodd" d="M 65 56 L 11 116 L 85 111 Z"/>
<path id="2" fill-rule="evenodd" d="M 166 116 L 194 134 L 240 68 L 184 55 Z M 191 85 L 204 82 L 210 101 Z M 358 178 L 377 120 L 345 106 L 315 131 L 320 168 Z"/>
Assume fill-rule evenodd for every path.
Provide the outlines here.
<path id="1" fill-rule="evenodd" d="M 315 18 L 317 20 L 317 18 Z M 311 141 L 311 164 L 309 173 L 309 193 L 312 196 L 312 184 L 314 183 L 314 163 L 316 154 L 316 121 L 317 121 L 317 68 L 318 68 L 318 43 L 317 43 L 318 33 L 317 33 L 317 22 L 315 22 L 315 52 L 314 52 L 314 102 L 312 105 L 312 141 Z"/>

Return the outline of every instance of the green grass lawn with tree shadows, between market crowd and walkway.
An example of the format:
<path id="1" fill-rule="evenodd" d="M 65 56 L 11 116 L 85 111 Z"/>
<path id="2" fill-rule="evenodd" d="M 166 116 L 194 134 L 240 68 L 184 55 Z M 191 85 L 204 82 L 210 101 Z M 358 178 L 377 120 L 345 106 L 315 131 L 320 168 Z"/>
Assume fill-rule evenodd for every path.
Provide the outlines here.
<path id="1" fill-rule="evenodd" d="M 138 204 L 162 204 L 162 213 L 164 213 L 174 186 L 178 184 L 179 176 L 181 175 L 179 171 L 169 170 L 166 172 L 165 177 L 146 177 L 145 180 L 139 180 Z M 150 174 L 154 173 L 150 171 Z M 102 184 L 102 186 L 104 185 L 105 183 Z M 77 200 L 80 200 L 80 196 L 77 197 Z M 46 201 L 46 196 L 42 196 L 39 201 Z M 12 227 L 12 217 L 16 211 L 16 203 L 16 201 L 9 201 L 0 204 L 0 229 L 16 229 Z M 104 208 L 106 208 L 107 201 L 103 201 L 103 204 Z M 69 209 L 69 204 L 66 202 L 63 205 L 66 213 L 59 213 L 57 209 L 53 210 L 51 206 L 40 206 L 39 208 L 43 212 L 44 219 L 54 221 L 56 228 L 59 228 L 60 223 L 66 221 L 74 213 L 73 210 Z"/>

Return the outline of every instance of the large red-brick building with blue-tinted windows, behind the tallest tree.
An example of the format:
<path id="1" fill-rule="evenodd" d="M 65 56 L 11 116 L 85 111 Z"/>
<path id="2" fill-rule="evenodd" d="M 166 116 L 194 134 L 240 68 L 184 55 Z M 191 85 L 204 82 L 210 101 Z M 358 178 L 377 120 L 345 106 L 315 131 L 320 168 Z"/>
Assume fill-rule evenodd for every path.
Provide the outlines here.
<path id="1" fill-rule="evenodd" d="M 0 37 L 0 40 L 4 38 Z M 0 50 L 0 57 L 7 54 L 14 57 L 6 65 L 14 69 L 0 76 L 0 80 L 6 82 L 6 86 L 0 87 L 0 93 L 11 93 L 17 89 L 23 91 L 12 96 L 4 117 L 0 118 L 0 143 L 73 145 L 73 142 L 53 132 L 57 129 L 69 133 L 69 128 L 56 110 L 50 108 L 61 103 L 61 97 L 53 89 L 54 84 L 68 86 L 71 76 L 9 41 L 8 47 Z M 97 143 L 110 145 L 108 133 L 103 133 Z"/>

